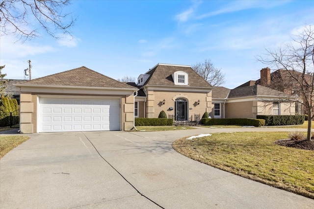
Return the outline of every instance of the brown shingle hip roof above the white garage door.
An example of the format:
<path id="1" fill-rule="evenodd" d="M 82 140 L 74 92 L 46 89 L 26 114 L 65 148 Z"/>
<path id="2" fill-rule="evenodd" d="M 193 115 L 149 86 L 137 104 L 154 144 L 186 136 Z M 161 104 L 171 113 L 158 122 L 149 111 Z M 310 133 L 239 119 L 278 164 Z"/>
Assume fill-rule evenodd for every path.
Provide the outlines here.
<path id="1" fill-rule="evenodd" d="M 86 67 L 67 70 L 56 74 L 36 78 L 21 84 L 27 85 L 51 85 L 51 86 L 79 86 L 79 87 L 107 87 L 107 88 L 127 88 L 133 87 L 126 83 L 119 82 L 113 78 L 105 76 Z"/>

